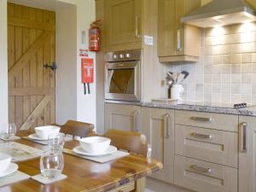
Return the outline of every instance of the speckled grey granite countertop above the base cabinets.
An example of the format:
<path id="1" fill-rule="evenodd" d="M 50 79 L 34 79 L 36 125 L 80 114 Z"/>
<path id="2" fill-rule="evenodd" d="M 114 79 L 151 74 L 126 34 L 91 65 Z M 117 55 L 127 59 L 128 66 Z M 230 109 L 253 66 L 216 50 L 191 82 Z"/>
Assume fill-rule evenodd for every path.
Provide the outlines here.
<path id="1" fill-rule="evenodd" d="M 117 102 L 105 101 L 109 103 L 119 103 L 126 105 L 137 105 L 148 108 L 169 108 L 177 110 L 189 110 L 209 113 L 237 114 L 244 116 L 256 116 L 256 106 L 248 108 L 233 108 L 231 103 L 209 103 L 209 102 Z"/>

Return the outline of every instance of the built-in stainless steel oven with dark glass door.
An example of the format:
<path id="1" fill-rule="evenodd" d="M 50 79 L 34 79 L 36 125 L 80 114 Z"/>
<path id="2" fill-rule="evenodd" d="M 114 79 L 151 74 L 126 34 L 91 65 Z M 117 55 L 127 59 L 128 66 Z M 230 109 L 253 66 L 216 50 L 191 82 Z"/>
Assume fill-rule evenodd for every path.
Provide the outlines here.
<path id="1" fill-rule="evenodd" d="M 141 101 L 141 49 L 105 55 L 105 99 Z"/>

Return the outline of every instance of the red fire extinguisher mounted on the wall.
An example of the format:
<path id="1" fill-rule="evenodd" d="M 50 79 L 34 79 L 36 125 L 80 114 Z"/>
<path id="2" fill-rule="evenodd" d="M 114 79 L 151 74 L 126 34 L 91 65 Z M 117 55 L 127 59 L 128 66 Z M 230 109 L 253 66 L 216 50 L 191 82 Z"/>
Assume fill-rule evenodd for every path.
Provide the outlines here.
<path id="1" fill-rule="evenodd" d="M 100 50 L 100 40 L 101 32 L 99 28 L 99 22 L 101 20 L 96 20 L 90 24 L 89 29 L 89 50 L 90 51 L 99 51 Z"/>

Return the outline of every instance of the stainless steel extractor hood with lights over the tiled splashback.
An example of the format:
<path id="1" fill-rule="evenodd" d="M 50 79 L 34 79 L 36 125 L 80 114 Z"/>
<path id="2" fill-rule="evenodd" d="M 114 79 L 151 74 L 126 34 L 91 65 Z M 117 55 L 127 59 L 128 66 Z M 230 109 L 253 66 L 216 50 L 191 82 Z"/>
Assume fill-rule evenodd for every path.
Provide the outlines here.
<path id="1" fill-rule="evenodd" d="M 182 22 L 200 27 L 226 26 L 255 20 L 253 7 L 243 0 L 213 0 L 182 18 Z"/>

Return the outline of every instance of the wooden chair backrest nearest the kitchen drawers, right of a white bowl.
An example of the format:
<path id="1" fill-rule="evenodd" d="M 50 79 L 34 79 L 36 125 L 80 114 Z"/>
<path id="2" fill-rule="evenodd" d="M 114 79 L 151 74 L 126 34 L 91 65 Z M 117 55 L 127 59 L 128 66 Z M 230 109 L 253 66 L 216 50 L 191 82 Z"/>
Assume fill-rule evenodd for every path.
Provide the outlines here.
<path id="1" fill-rule="evenodd" d="M 104 137 L 110 138 L 111 145 L 116 148 L 147 157 L 148 145 L 146 137 L 140 133 L 110 129 L 104 134 Z"/>

